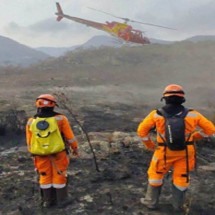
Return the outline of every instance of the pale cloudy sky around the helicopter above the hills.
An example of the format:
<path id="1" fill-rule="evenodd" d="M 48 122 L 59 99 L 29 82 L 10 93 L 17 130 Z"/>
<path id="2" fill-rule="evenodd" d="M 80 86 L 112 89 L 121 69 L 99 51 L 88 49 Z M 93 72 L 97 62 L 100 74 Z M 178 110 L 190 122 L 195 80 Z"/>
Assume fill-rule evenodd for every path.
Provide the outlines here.
<path id="1" fill-rule="evenodd" d="M 130 23 L 149 38 L 179 41 L 196 35 L 215 35 L 214 0 L 57 0 L 70 16 L 100 23 L 127 17 L 175 28 L 168 30 Z M 95 8 L 114 16 L 90 8 Z M 54 0 L 0 0 L 0 36 L 37 47 L 71 47 L 97 35 L 108 35 L 68 19 L 56 21 Z"/>

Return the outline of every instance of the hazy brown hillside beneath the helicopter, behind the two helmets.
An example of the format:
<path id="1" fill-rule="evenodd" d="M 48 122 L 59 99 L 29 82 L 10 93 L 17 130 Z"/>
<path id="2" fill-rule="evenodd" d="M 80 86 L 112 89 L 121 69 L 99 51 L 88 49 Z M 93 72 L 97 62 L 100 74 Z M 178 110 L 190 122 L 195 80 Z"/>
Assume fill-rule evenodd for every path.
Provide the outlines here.
<path id="1" fill-rule="evenodd" d="M 215 42 L 189 41 L 79 50 L 21 71 L 11 69 L 5 73 L 1 69 L 1 88 L 3 91 L 8 88 L 10 74 L 16 83 L 12 83 L 13 88 L 7 89 L 7 93 L 15 89 L 18 97 L 28 100 L 26 91 L 34 97 L 44 91 L 63 90 L 77 103 L 84 96 L 89 104 L 97 103 L 99 98 L 159 105 L 165 85 L 178 83 L 185 88 L 188 105 L 207 109 L 215 99 L 214 51 Z"/>

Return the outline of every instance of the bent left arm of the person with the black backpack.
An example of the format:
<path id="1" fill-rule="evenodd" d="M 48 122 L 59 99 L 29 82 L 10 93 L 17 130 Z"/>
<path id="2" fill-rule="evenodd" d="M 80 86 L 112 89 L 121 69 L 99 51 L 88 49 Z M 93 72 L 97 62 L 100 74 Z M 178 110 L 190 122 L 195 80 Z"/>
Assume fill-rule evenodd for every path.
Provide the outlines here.
<path id="1" fill-rule="evenodd" d="M 146 149 L 154 151 L 156 144 L 150 139 L 150 131 L 155 127 L 154 121 L 155 111 L 152 111 L 145 119 L 139 124 L 137 134 L 141 138 Z"/>

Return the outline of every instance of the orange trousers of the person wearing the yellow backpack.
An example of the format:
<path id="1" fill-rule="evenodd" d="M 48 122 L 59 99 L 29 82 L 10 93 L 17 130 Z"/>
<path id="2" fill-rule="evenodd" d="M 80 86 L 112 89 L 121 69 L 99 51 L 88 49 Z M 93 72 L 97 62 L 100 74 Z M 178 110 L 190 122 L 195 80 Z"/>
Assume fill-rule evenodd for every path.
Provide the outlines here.
<path id="1" fill-rule="evenodd" d="M 69 166 L 66 151 L 49 156 L 35 156 L 34 165 L 39 173 L 41 188 L 62 188 L 66 185 Z"/>

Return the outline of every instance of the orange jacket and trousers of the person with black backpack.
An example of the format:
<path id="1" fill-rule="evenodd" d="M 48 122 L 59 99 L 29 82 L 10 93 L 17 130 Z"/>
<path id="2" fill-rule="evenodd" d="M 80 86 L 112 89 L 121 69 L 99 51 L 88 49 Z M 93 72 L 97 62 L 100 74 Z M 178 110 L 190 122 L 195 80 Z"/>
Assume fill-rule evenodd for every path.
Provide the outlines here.
<path id="1" fill-rule="evenodd" d="M 146 148 L 155 148 L 155 143 L 150 140 L 150 130 L 156 127 L 157 142 L 163 143 L 163 139 L 159 134 L 164 136 L 165 133 L 165 119 L 159 115 L 156 110 L 153 110 L 139 125 L 137 133 L 142 138 Z M 197 131 L 197 128 L 201 131 Z M 215 127 L 208 119 L 195 110 L 188 112 L 185 117 L 185 134 L 189 137 L 189 142 L 195 141 L 196 136 L 208 136 L 215 134 Z M 159 133 L 159 134 L 158 134 Z M 189 171 L 194 169 L 195 166 L 195 148 L 194 145 L 188 145 L 188 161 Z M 161 186 L 163 184 L 164 175 L 173 167 L 173 184 L 184 190 L 187 188 L 189 182 L 185 177 L 187 175 L 186 164 L 186 150 L 171 151 L 164 146 L 155 148 L 155 152 L 148 169 L 149 184 L 152 186 Z"/>

